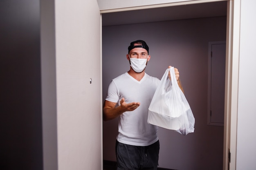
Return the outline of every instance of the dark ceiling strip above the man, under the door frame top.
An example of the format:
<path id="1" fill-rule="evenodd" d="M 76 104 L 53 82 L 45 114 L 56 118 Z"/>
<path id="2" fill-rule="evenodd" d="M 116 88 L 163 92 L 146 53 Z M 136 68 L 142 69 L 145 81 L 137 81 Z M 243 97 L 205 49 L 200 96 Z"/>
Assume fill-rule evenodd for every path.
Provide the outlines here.
<path id="1" fill-rule="evenodd" d="M 227 15 L 227 1 L 102 14 L 102 26 L 206 18 Z"/>

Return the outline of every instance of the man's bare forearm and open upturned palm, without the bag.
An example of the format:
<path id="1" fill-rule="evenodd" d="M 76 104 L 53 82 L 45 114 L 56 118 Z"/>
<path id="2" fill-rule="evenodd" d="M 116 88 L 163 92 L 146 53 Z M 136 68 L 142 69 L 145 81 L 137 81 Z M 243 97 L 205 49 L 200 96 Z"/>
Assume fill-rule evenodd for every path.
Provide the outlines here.
<path id="1" fill-rule="evenodd" d="M 120 101 L 120 106 L 116 107 L 117 103 L 110 102 L 108 100 L 105 100 L 103 105 L 103 120 L 108 121 L 115 119 L 119 115 L 123 114 L 126 111 L 132 111 L 135 110 L 137 107 L 139 107 L 139 102 L 132 102 L 126 104 L 124 102 L 124 98 Z"/>

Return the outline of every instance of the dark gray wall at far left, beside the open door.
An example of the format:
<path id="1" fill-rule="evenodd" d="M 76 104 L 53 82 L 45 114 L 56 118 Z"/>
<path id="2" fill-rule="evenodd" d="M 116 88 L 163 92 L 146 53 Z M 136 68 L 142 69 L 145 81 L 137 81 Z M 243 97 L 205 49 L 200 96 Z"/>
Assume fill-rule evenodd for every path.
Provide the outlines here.
<path id="1" fill-rule="evenodd" d="M 0 1 L 0 169 L 42 170 L 40 1 Z"/>

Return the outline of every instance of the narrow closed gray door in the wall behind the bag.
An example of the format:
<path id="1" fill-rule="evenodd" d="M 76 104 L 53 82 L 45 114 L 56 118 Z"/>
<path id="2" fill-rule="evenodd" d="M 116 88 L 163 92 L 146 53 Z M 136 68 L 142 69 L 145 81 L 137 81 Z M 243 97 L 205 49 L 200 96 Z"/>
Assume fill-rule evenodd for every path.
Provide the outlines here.
<path id="1" fill-rule="evenodd" d="M 208 125 L 224 125 L 226 42 L 209 42 Z"/>

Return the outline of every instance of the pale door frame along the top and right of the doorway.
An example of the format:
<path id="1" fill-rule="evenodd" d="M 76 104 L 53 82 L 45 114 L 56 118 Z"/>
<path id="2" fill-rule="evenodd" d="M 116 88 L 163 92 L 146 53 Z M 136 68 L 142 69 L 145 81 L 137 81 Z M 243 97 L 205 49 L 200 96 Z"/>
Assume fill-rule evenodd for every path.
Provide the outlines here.
<path id="1" fill-rule="evenodd" d="M 227 1 L 227 37 L 225 69 L 225 115 L 223 141 L 223 170 L 236 170 L 236 137 L 238 106 L 238 64 L 240 41 L 240 1 L 241 0 L 192 0 L 170 2 L 166 4 L 145 5 L 120 9 L 101 10 L 100 13 L 112 13 L 160 7 L 172 7 L 206 2 Z M 101 35 L 102 40 L 102 35 Z M 102 53 L 102 51 L 101 51 Z M 101 55 L 102 57 L 102 55 Z M 102 58 L 101 58 L 102 60 Z M 231 153 L 231 154 L 230 154 Z M 230 157 L 230 155 L 232 155 Z"/>

